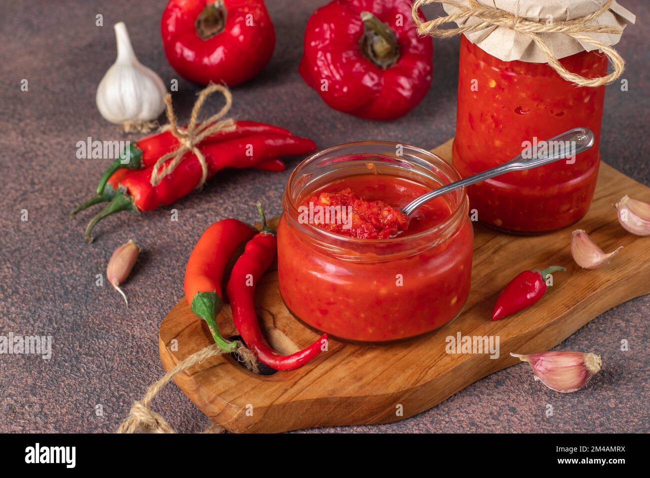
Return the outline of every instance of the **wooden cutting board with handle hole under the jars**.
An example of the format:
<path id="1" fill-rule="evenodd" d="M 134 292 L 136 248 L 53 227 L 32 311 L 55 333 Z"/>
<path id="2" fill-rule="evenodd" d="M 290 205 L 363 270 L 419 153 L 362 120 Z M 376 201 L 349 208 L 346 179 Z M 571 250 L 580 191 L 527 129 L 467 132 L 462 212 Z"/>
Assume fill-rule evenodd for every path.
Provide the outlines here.
<path id="1" fill-rule="evenodd" d="M 450 159 L 451 144 L 450 140 L 434 153 Z M 600 313 L 650 293 L 650 237 L 623 230 L 613 207 L 625 194 L 650 202 L 650 188 L 601 163 L 591 209 L 575 226 L 539 237 L 518 237 L 474 224 L 472 285 L 465 310 L 429 336 L 375 347 L 330 339 L 329 350 L 304 367 L 268 376 L 220 356 L 177 375 L 175 382 L 203 413 L 232 432 L 388 423 L 427 410 L 476 380 L 518 363 L 510 352 L 546 351 Z M 578 228 L 590 233 L 606 252 L 624 248 L 604 269 L 580 269 L 569 250 L 571 231 Z M 555 285 L 543 300 L 502 321 L 490 320 L 495 299 L 511 278 L 551 264 L 567 271 L 554 275 Z M 255 303 L 268 341 L 278 351 L 294 352 L 317 338 L 283 305 L 275 265 L 257 285 Z M 218 324 L 224 336 L 237 335 L 228 306 Z M 445 339 L 458 332 L 499 336 L 499 358 L 447 354 Z M 211 343 L 184 298 L 162 321 L 159 347 L 166 370 Z"/>

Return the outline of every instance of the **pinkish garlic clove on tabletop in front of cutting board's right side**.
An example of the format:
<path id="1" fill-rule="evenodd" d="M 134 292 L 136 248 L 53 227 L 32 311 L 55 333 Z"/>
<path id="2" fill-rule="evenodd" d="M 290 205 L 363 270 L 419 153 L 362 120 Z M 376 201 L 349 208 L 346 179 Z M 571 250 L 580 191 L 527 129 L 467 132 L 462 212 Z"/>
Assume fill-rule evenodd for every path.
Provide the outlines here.
<path id="1" fill-rule="evenodd" d="M 551 390 L 562 393 L 584 388 L 601 369 L 601 357 L 593 352 L 549 351 L 528 355 L 511 352 L 510 355 L 528 362 L 536 380 Z"/>

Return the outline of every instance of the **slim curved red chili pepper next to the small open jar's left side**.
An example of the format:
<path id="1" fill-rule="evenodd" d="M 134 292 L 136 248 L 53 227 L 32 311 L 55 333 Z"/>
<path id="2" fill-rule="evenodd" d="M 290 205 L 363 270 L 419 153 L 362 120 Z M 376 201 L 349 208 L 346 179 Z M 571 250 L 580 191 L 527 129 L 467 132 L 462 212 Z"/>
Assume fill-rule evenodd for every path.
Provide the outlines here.
<path id="1" fill-rule="evenodd" d="M 327 334 L 306 349 L 291 355 L 282 355 L 266 345 L 255 313 L 253 295 L 257 281 L 264 274 L 276 255 L 276 233 L 266 226 L 262 206 L 257 203 L 262 218 L 262 231 L 246 243 L 242 254 L 230 275 L 226 287 L 235 326 L 257 360 L 276 370 L 292 370 L 306 364 L 317 356 L 327 341 Z"/>

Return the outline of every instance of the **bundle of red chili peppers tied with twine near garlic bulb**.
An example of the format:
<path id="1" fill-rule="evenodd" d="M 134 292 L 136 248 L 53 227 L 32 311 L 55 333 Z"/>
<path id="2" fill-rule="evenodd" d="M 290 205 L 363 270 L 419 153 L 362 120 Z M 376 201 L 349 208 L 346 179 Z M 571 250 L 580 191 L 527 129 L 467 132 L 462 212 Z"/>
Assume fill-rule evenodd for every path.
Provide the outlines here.
<path id="1" fill-rule="evenodd" d="M 221 85 L 211 87 L 214 87 L 213 90 L 223 88 Z M 205 96 L 213 90 L 207 91 Z M 198 108 L 195 105 L 195 109 L 200 109 L 200 103 L 202 100 L 197 101 Z M 192 118 L 196 117 L 196 113 L 198 112 L 192 112 Z M 173 113 L 168 112 L 168 117 L 175 124 Z M 190 122 L 190 126 L 195 125 Z M 200 124 L 196 126 L 201 127 Z M 231 122 L 229 127 L 208 135 L 192 147 L 198 148 L 203 162 L 199 160 L 196 150 L 188 150 L 182 156 L 179 155 L 179 162 L 172 170 L 152 178 L 158 171 L 157 163 L 164 156 L 172 155 L 178 150 L 183 152 L 179 149 L 182 148 L 181 140 L 172 131 L 163 131 L 131 144 L 129 150 L 103 174 L 97 195 L 72 211 L 74 216 L 86 207 L 108 202 L 88 222 L 88 242 L 93 240 L 91 232 L 94 226 L 105 217 L 120 211 L 152 211 L 159 206 L 171 204 L 224 168 L 254 167 L 282 171 L 285 165 L 278 159 L 279 156 L 302 155 L 316 150 L 316 144 L 310 139 L 292 136 L 289 131 L 277 126 L 248 121 Z M 163 168 L 167 164 L 165 161 Z"/>

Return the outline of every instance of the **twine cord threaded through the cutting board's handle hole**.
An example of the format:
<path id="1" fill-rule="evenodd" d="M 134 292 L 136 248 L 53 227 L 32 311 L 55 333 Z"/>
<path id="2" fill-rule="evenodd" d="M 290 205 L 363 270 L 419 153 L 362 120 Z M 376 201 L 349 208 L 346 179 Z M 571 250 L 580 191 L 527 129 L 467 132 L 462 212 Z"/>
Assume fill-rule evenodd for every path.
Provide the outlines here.
<path id="1" fill-rule="evenodd" d="M 221 349 L 216 343 L 201 349 L 198 352 L 188 356 L 185 360 L 179 362 L 173 369 L 168 371 L 160 380 L 149 387 L 147 393 L 140 401 L 133 402 L 129 416 L 125 419 L 120 427 L 118 433 L 135 433 L 137 431 L 148 433 L 175 433 L 176 431 L 161 415 L 151 410 L 151 401 L 155 399 L 156 395 L 160 393 L 162 387 L 168 384 L 172 378 L 179 373 L 200 364 L 207 358 L 219 356 L 227 353 Z M 257 372 L 257 359 L 253 352 L 246 349 L 243 345 L 237 349 L 243 364 L 246 368 Z M 222 433 L 224 429 L 216 423 L 210 425 L 203 433 Z"/>

